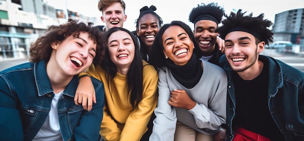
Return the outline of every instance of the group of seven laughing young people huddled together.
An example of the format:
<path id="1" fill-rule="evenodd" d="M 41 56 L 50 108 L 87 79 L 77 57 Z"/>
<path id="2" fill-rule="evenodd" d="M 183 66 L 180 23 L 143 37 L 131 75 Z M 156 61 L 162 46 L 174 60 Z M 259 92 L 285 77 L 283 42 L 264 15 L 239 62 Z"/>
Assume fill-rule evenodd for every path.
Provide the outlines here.
<path id="1" fill-rule="evenodd" d="M 100 0 L 105 26 L 51 26 L 0 72 L 0 140 L 304 140 L 304 73 L 260 55 L 263 14 L 202 3 L 191 31 L 144 6 L 131 32 L 125 7 Z"/>

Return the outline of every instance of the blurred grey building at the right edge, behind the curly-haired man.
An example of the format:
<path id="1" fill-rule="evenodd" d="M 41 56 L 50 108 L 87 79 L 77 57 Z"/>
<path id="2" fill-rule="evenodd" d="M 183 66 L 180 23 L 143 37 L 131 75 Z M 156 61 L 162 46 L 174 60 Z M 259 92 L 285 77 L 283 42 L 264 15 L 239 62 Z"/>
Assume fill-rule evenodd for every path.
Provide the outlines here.
<path id="1" fill-rule="evenodd" d="M 272 32 L 274 42 L 290 41 L 304 47 L 304 8 L 276 14 Z"/>

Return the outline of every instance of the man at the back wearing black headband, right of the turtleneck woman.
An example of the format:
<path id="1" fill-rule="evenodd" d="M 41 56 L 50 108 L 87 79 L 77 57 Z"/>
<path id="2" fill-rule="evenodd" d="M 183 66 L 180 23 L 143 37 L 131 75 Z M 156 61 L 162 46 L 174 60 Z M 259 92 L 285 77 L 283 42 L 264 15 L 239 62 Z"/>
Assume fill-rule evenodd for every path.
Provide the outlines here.
<path id="1" fill-rule="evenodd" d="M 193 33 L 199 45 L 199 48 L 194 48 L 194 52 L 202 61 L 219 65 L 219 59 L 223 55 L 224 49 L 222 49 L 223 41 L 218 38 L 216 29 L 223 14 L 223 8 L 214 2 L 209 4 L 201 3 L 201 5 L 194 7 L 189 14 L 189 21 L 194 24 Z"/>

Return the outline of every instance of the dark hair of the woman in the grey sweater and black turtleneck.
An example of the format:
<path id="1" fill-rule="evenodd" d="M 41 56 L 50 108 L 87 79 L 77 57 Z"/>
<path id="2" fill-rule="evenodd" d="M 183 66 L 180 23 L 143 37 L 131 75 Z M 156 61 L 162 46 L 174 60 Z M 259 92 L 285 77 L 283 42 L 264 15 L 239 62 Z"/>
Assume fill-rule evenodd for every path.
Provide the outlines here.
<path id="1" fill-rule="evenodd" d="M 149 54 L 149 63 L 154 66 L 156 70 L 161 69 L 162 67 L 166 66 L 168 67 L 168 64 L 166 63 L 166 58 L 163 53 L 164 46 L 163 46 L 163 39 L 162 36 L 164 32 L 171 26 L 179 26 L 183 28 L 186 33 L 188 34 L 189 38 L 194 44 L 195 48 L 198 48 L 198 45 L 195 41 L 195 37 L 193 35 L 193 32 L 191 31 L 191 28 L 184 22 L 182 21 L 172 21 L 169 24 L 165 24 L 158 33 L 155 36 L 155 40 L 153 41 L 152 47 L 151 47 L 151 52 Z M 194 53 L 194 52 L 193 52 Z"/>

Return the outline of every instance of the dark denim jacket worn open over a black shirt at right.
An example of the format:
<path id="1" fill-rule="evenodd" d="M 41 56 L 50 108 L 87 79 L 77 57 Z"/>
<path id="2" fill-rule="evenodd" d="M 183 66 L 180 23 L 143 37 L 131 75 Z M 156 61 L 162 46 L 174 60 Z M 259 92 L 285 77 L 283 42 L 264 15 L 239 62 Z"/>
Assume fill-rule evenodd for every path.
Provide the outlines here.
<path id="1" fill-rule="evenodd" d="M 269 64 L 264 67 L 269 67 L 268 106 L 274 122 L 286 141 L 304 141 L 304 73 L 268 56 L 259 55 L 259 60 Z M 225 55 L 220 58 L 220 66 L 228 77 L 226 141 L 232 141 L 236 97 Z"/>

